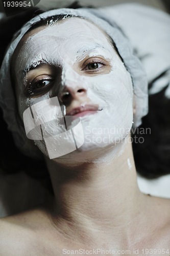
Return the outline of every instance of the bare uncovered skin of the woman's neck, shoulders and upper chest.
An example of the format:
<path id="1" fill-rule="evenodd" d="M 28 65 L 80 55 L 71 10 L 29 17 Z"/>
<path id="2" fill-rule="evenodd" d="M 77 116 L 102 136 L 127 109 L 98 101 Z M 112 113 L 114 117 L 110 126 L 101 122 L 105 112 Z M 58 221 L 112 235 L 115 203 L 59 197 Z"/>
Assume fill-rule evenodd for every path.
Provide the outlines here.
<path id="1" fill-rule="evenodd" d="M 67 25 L 68 21 L 63 23 Z M 76 18 L 75 30 L 78 23 Z M 91 26 L 89 23 L 89 29 L 95 34 L 95 28 Z M 23 38 L 17 51 L 31 34 L 43 29 L 38 28 Z M 35 69 L 30 76 L 37 76 L 43 68 Z M 67 87 L 72 97 L 66 111 L 82 103 L 82 99 L 83 102 L 89 100 L 87 95 L 77 93 L 77 88 L 72 88 L 71 84 Z M 21 95 L 21 86 L 17 82 L 16 88 L 20 92 L 17 95 Z M 21 96 L 18 97 L 19 106 L 20 100 Z M 19 110 L 22 113 L 22 106 Z M 129 125 L 127 123 L 127 127 Z M 101 162 L 70 163 L 45 156 L 54 200 L 42 208 L 1 220 L 0 255 L 61 255 L 63 248 L 126 249 L 131 250 L 130 255 L 134 254 L 134 249 L 139 249 L 138 255 L 142 255 L 143 248 L 170 250 L 169 200 L 140 193 L 129 141 L 130 134 L 112 150 L 108 145 L 103 155 L 103 149 L 98 151 L 103 159 Z M 80 153 L 85 155 L 84 151 Z M 79 152 L 77 154 L 79 156 Z M 107 162 L 104 161 L 105 154 Z"/>

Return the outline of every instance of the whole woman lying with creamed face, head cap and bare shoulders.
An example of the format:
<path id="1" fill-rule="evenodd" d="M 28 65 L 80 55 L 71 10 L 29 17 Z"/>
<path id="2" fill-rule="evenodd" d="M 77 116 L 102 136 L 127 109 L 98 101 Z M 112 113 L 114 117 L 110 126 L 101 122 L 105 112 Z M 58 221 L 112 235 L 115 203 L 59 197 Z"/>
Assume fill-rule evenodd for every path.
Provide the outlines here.
<path id="1" fill-rule="evenodd" d="M 55 195 L 1 220 L 1 254 L 169 255 L 169 200 L 139 191 L 130 140 L 147 82 L 116 25 L 89 10 L 43 13 L 15 35 L 1 75 L 6 121 L 23 152 L 43 153 Z"/>

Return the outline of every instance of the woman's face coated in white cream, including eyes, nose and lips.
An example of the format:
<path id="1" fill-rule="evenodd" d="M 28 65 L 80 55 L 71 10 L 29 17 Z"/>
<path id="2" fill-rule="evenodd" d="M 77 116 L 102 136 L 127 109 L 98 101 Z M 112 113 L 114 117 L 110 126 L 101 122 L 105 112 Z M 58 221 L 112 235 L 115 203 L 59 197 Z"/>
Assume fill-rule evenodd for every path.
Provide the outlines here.
<path id="1" fill-rule="evenodd" d="M 75 154 L 81 158 L 86 151 L 86 158 L 90 152 L 92 159 L 92 152 L 115 146 L 129 133 L 133 121 L 131 76 L 110 38 L 91 22 L 70 17 L 29 32 L 17 47 L 13 67 L 22 119 L 30 106 L 42 102 L 45 109 L 47 99 L 56 96 L 57 108 L 61 107 L 63 115 L 71 116 L 67 130 L 77 124 L 74 119 L 80 118 L 84 143 L 62 158 Z M 37 115 L 42 114 L 42 109 Z M 51 103 L 47 109 L 50 115 Z M 41 132 L 45 134 L 46 129 L 54 135 L 51 147 L 55 150 L 58 146 L 55 134 L 66 131 L 61 115 L 48 128 L 41 127 Z M 76 136 L 82 136 L 81 132 Z M 64 143 L 65 146 L 71 143 L 69 136 Z M 43 139 L 36 144 L 47 154 Z"/>

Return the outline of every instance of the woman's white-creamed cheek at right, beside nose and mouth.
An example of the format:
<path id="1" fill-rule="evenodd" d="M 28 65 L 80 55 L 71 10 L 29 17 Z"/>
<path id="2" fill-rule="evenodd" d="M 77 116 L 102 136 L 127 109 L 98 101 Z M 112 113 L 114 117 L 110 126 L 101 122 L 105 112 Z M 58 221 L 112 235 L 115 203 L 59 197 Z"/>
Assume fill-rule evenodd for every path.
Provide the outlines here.
<path id="1" fill-rule="evenodd" d="M 101 108 L 110 109 L 123 115 L 127 109 L 132 109 L 133 86 L 130 74 L 125 68 L 114 67 L 109 74 L 88 78 L 88 97 Z"/>

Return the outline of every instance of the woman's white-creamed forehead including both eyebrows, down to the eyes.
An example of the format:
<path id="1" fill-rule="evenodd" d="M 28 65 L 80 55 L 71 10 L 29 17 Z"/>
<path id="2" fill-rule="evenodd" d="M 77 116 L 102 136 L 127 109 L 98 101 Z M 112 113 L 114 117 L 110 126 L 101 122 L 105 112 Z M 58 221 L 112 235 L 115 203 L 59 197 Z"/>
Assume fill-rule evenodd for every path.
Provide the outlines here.
<path id="1" fill-rule="evenodd" d="M 52 26 L 41 26 L 22 37 L 12 60 L 15 72 L 27 73 L 38 63 L 74 65 L 87 56 L 116 58 L 111 38 L 97 25 L 80 17 L 69 17 Z M 14 65 L 13 65 L 14 64 Z"/>

